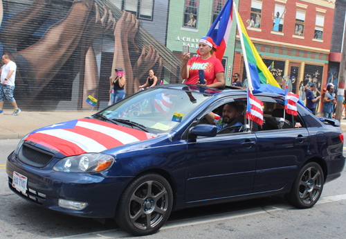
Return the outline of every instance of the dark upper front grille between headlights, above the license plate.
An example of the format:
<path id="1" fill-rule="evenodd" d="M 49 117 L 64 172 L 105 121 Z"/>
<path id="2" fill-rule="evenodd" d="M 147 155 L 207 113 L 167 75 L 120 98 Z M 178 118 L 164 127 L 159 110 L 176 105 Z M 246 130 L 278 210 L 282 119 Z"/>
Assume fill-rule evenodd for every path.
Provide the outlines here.
<path id="1" fill-rule="evenodd" d="M 26 144 L 24 144 L 19 151 L 20 161 L 37 168 L 46 166 L 53 159 L 53 157 L 53 153 L 46 152 Z"/>

